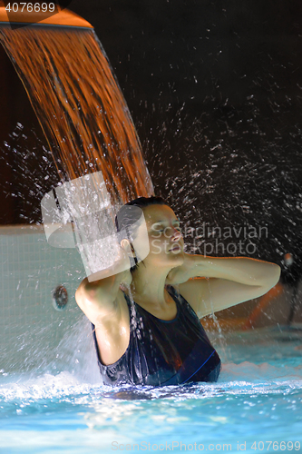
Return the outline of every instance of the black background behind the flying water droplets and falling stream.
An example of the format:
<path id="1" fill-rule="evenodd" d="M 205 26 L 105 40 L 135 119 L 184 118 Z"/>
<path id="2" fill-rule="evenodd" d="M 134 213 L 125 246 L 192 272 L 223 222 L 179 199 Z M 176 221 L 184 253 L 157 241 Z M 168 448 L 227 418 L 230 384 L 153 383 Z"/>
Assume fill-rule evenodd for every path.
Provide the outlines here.
<path id="1" fill-rule="evenodd" d="M 292 252 L 300 263 L 301 2 L 73 0 L 68 7 L 102 42 L 156 194 L 187 225 L 266 226 L 252 255 L 282 262 Z M 31 178 L 43 186 L 46 173 L 54 185 L 57 177 L 39 159 L 47 145 L 2 50 L 0 63 L 0 145 L 8 144 L 0 222 L 41 222 Z"/>

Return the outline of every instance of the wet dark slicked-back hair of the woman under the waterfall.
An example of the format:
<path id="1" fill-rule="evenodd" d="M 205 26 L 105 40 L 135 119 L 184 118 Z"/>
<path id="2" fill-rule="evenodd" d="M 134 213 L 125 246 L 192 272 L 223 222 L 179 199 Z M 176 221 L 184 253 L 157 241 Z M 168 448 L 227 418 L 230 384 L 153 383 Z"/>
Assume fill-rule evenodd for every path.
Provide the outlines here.
<path id="1" fill-rule="evenodd" d="M 119 212 L 117 212 L 115 216 L 116 230 L 118 232 L 118 235 L 120 233 L 119 242 L 122 242 L 123 239 L 126 239 L 130 242 L 130 246 L 132 248 L 132 253 L 134 257 L 130 257 L 131 272 L 137 270 L 137 268 L 139 267 L 140 260 L 132 244 L 133 240 L 136 237 L 135 223 L 141 219 L 141 210 L 150 205 L 170 206 L 169 203 L 167 203 L 160 196 L 151 195 L 151 197 L 139 197 L 138 199 L 134 199 L 122 205 L 122 208 L 119 210 Z M 133 208 L 129 209 L 129 207 Z M 135 207 L 137 207 L 137 210 L 135 210 Z"/>

